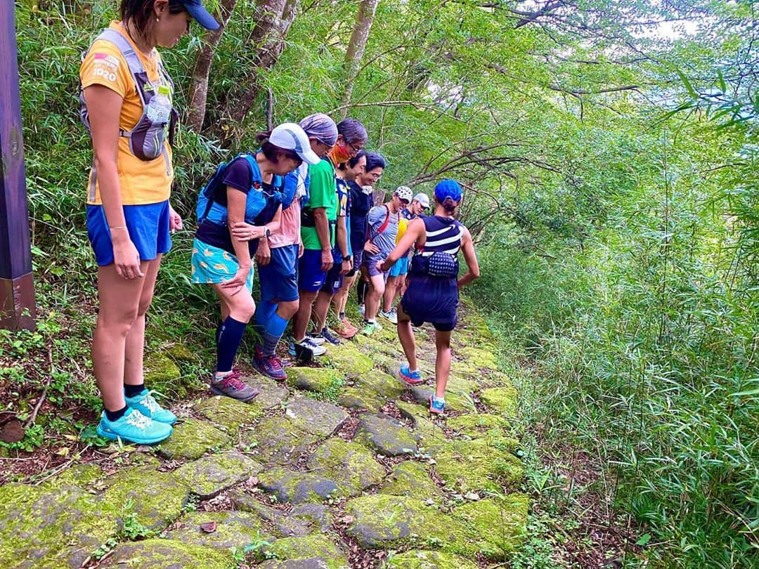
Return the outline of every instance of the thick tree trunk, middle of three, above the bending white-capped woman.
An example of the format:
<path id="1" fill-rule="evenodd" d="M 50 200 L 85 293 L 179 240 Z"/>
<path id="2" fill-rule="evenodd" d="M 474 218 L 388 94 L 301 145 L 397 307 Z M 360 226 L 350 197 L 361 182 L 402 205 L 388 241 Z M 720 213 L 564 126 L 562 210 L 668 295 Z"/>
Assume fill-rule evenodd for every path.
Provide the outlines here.
<path id="1" fill-rule="evenodd" d="M 230 124 L 241 125 L 260 93 L 259 69 L 272 68 L 285 49 L 285 38 L 298 10 L 298 0 L 258 0 L 256 21 L 248 45 L 254 50 L 252 71 L 243 89 L 227 99 L 225 115 Z M 228 132 L 232 134 L 235 128 Z"/>

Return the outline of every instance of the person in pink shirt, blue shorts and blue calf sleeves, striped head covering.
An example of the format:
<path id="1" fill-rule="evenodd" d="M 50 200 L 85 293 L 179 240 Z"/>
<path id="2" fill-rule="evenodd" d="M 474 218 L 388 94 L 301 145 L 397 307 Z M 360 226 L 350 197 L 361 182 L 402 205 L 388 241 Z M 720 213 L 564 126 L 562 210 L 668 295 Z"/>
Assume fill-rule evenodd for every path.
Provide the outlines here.
<path id="1" fill-rule="evenodd" d="M 337 126 L 332 118 L 316 113 L 300 123 L 311 149 L 322 159 L 337 140 Z M 282 222 L 279 231 L 261 239 L 256 252 L 261 301 L 256 309 L 256 324 L 262 339 L 255 347 L 253 365 L 272 379 L 287 378 L 282 361 L 276 355 L 279 339 L 288 322 L 298 312 L 298 258 L 301 255 L 301 199 L 307 195 L 308 164 L 303 162 L 285 176 L 282 196 Z M 304 347 L 302 360 L 321 355 L 325 349 Z"/>

